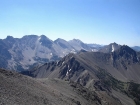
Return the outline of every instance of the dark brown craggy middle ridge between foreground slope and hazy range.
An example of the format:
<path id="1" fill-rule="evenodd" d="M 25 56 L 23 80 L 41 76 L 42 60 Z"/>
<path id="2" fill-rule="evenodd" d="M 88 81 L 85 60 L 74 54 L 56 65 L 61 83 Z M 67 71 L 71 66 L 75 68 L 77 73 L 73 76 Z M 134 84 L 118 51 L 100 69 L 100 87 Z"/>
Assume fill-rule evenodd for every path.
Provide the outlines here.
<path id="1" fill-rule="evenodd" d="M 134 105 L 132 99 L 140 102 L 139 95 L 136 95 L 140 87 L 139 59 L 138 53 L 123 45 L 110 53 L 80 51 L 68 54 L 60 61 L 45 63 L 22 73 L 34 78 L 74 81 L 92 90 L 111 92 L 124 105 Z"/>

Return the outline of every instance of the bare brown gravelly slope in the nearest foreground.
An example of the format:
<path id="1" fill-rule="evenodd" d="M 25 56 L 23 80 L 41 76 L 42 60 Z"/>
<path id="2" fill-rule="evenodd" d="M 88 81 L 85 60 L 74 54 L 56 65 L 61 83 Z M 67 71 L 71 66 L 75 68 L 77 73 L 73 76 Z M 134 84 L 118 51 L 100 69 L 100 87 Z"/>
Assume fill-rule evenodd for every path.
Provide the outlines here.
<path id="1" fill-rule="evenodd" d="M 112 103 L 122 105 L 112 94 L 91 91 L 72 81 L 35 79 L 0 69 L 1 105 L 111 105 Z"/>

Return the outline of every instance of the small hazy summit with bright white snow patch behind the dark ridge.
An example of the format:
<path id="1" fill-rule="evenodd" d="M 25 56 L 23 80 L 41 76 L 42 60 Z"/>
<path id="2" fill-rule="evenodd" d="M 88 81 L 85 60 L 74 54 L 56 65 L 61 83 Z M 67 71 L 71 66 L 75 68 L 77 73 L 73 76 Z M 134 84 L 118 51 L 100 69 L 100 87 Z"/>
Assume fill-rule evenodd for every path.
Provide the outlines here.
<path id="1" fill-rule="evenodd" d="M 120 47 L 121 47 L 121 45 L 114 42 L 109 45 L 103 46 L 101 49 L 99 49 L 99 52 L 110 53 L 110 52 L 116 51 Z"/>

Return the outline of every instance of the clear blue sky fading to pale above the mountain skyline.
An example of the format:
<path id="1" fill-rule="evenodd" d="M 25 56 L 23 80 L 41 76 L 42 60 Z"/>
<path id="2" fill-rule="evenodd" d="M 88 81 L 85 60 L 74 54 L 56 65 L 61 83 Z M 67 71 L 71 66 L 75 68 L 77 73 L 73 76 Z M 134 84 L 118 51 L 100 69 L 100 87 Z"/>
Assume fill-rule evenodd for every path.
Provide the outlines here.
<path id="1" fill-rule="evenodd" d="M 0 39 L 30 34 L 140 46 L 140 0 L 0 0 Z"/>

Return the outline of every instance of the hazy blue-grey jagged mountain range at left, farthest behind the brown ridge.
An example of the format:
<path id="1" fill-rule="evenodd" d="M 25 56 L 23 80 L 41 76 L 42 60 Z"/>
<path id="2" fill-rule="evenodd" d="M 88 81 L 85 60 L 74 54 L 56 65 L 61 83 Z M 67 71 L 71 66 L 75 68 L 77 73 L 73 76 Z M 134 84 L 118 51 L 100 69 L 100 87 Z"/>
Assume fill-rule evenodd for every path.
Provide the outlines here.
<path id="1" fill-rule="evenodd" d="M 36 64 L 59 60 L 81 49 L 96 51 L 96 48 L 76 39 L 65 41 L 58 38 L 52 41 L 45 35 L 26 35 L 22 38 L 7 36 L 6 39 L 0 39 L 0 67 L 23 71 Z"/>

